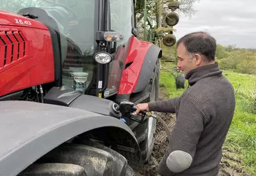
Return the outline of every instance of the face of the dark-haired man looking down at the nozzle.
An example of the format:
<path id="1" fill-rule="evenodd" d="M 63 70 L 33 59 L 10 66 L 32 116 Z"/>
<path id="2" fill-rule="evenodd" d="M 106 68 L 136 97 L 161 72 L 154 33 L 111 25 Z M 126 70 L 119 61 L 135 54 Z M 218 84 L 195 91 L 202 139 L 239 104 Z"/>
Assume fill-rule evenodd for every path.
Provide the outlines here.
<path id="1" fill-rule="evenodd" d="M 177 47 L 177 66 L 182 73 L 187 74 L 189 71 L 197 68 L 197 61 L 194 56 L 189 56 L 183 43 Z"/>

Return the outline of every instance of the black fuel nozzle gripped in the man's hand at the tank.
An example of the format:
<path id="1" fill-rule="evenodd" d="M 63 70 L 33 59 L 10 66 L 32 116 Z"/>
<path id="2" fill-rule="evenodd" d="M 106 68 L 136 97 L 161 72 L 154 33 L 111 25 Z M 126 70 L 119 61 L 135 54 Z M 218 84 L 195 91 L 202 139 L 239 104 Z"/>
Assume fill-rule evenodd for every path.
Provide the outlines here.
<path id="1" fill-rule="evenodd" d="M 146 112 L 141 111 L 138 115 L 135 115 L 134 112 L 137 110 L 137 106 L 134 105 L 134 103 L 129 101 L 122 101 L 119 104 L 118 109 L 125 118 L 137 121 L 138 123 L 143 123 Z"/>

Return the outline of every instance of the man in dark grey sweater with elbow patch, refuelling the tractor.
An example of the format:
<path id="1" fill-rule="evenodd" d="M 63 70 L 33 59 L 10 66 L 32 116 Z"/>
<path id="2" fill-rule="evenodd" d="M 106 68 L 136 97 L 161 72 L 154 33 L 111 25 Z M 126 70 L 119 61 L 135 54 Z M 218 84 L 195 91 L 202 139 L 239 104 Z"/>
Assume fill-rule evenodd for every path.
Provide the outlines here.
<path id="1" fill-rule="evenodd" d="M 216 41 L 205 32 L 189 33 L 177 41 L 177 66 L 189 88 L 178 98 L 137 105 L 139 111 L 176 113 L 159 175 L 218 175 L 222 144 L 235 110 L 230 81 L 215 63 Z"/>

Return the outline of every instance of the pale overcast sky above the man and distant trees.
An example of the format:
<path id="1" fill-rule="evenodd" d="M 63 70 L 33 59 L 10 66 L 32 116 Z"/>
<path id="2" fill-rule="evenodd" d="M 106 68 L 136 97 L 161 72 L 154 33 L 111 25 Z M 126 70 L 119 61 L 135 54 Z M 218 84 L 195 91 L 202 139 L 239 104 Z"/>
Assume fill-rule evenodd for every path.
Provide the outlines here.
<path id="1" fill-rule="evenodd" d="M 221 45 L 235 44 L 240 48 L 256 48 L 255 0 L 201 0 L 191 19 L 180 15 L 174 26 L 179 39 L 186 33 L 207 31 Z"/>

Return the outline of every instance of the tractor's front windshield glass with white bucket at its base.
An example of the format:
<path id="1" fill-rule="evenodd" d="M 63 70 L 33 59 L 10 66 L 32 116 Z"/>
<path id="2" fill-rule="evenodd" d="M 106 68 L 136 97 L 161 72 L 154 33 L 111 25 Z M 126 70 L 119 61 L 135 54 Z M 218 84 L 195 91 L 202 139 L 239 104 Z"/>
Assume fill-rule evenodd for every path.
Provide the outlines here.
<path id="1" fill-rule="evenodd" d="M 59 38 L 62 85 L 85 92 L 96 68 L 94 4 L 94 0 L 1 0 L 0 9 L 15 14 L 29 12 L 56 31 L 51 34 Z M 59 50 L 54 48 L 56 53 Z"/>

